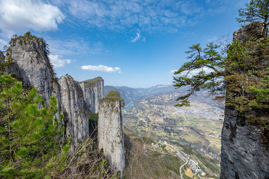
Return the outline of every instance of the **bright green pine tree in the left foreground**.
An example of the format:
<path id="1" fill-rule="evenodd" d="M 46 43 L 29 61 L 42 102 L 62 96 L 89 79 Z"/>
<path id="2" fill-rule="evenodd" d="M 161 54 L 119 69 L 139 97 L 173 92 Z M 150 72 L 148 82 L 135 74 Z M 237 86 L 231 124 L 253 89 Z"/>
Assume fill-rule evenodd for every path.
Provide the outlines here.
<path id="1" fill-rule="evenodd" d="M 23 89 L 10 75 L 0 76 L 0 178 L 46 178 L 67 156 L 56 98 L 45 107 L 36 91 Z M 57 166 L 63 168 L 64 163 Z"/>

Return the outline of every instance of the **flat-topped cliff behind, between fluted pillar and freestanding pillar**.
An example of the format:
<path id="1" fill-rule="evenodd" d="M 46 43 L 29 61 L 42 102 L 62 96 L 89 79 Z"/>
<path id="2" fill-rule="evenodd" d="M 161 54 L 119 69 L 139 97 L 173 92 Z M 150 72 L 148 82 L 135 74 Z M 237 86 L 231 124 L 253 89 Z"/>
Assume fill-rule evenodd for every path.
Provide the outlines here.
<path id="1" fill-rule="evenodd" d="M 101 77 L 97 77 L 79 84 L 83 90 L 88 110 L 92 113 L 98 113 L 99 101 L 104 95 L 104 80 Z"/>

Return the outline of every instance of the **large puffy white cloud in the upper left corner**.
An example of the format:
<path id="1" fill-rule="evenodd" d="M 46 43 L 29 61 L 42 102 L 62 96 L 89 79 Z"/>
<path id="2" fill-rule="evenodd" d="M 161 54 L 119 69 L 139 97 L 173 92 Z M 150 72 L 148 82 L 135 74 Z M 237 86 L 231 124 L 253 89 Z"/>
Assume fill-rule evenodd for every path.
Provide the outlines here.
<path id="1" fill-rule="evenodd" d="M 40 0 L 0 0 L 2 31 L 55 30 L 63 18 L 57 6 Z"/>

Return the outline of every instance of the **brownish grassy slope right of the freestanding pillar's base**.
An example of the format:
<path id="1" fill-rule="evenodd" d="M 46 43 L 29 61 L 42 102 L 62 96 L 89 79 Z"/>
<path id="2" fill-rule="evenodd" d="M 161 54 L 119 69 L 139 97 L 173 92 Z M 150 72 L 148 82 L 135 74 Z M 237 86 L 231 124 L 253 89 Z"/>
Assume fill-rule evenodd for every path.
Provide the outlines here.
<path id="1" fill-rule="evenodd" d="M 124 179 L 177 179 L 182 164 L 177 157 L 145 150 L 151 140 L 125 128 L 126 168 Z"/>

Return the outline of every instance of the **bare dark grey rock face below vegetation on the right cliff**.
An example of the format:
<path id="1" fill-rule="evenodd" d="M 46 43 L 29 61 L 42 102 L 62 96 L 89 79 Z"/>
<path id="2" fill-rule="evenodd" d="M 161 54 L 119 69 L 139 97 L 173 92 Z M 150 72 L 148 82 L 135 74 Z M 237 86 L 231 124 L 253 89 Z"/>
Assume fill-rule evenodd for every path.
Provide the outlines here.
<path id="1" fill-rule="evenodd" d="M 269 178 L 269 151 L 261 141 L 264 129 L 243 123 L 226 107 L 221 140 L 221 179 Z"/>

